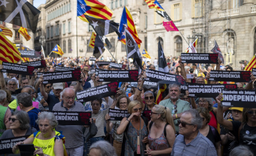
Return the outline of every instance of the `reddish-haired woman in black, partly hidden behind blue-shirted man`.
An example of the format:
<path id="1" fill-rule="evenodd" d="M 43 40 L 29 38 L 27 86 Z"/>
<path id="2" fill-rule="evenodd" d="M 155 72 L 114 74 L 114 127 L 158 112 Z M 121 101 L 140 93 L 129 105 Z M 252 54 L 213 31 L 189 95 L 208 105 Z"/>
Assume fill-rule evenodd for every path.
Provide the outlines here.
<path id="1" fill-rule="evenodd" d="M 221 156 L 221 148 L 220 148 L 220 142 L 221 138 L 216 128 L 208 125 L 208 123 L 211 120 L 211 115 L 208 111 L 208 109 L 204 107 L 199 107 L 196 109 L 199 113 L 200 117 L 203 119 L 203 125 L 199 129 L 200 133 L 203 134 L 205 137 L 207 137 L 215 146 L 217 155 Z"/>

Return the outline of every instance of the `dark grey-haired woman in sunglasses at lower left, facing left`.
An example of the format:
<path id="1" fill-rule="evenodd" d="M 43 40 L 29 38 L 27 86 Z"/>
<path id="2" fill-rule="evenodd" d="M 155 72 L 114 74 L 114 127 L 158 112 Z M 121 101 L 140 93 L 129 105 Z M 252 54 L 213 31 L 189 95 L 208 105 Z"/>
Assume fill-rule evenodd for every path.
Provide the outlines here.
<path id="1" fill-rule="evenodd" d="M 15 111 L 9 118 L 10 129 L 5 130 L 0 139 L 31 135 L 37 130 L 29 125 L 29 117 L 25 111 Z M 7 154 L 7 156 L 18 156 L 20 154 Z"/>

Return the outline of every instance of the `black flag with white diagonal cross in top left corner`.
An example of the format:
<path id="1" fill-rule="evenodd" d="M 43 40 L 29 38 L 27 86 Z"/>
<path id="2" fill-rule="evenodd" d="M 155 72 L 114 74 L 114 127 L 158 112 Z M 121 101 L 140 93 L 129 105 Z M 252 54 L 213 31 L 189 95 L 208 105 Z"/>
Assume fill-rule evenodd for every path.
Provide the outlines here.
<path id="1" fill-rule="evenodd" d="M 31 29 L 36 33 L 40 11 L 26 0 L 1 0 L 0 21 Z"/>

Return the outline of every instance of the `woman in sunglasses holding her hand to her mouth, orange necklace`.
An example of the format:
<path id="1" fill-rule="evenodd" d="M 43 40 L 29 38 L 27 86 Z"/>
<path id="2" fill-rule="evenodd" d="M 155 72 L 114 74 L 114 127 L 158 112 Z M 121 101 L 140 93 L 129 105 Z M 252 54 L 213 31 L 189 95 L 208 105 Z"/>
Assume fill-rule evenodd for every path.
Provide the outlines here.
<path id="1" fill-rule="evenodd" d="M 131 114 L 124 117 L 117 128 L 116 133 L 124 133 L 121 155 L 123 156 L 144 156 L 145 143 L 147 142 L 148 120 L 141 116 L 142 104 L 138 100 L 128 104 L 127 111 Z M 137 149 L 139 147 L 140 149 Z"/>

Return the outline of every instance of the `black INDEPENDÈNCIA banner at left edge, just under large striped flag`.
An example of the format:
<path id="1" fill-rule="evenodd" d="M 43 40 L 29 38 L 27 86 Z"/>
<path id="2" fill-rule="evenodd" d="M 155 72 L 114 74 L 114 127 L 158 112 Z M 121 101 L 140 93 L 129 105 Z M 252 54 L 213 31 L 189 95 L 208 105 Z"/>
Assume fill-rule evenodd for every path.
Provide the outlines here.
<path id="1" fill-rule="evenodd" d="M 34 67 L 28 65 L 22 65 L 18 63 L 9 63 L 3 62 L 2 72 L 13 73 L 13 74 L 22 74 L 22 75 L 34 75 Z"/>

